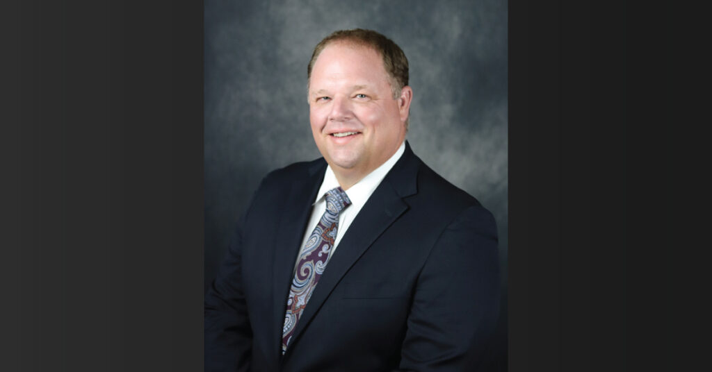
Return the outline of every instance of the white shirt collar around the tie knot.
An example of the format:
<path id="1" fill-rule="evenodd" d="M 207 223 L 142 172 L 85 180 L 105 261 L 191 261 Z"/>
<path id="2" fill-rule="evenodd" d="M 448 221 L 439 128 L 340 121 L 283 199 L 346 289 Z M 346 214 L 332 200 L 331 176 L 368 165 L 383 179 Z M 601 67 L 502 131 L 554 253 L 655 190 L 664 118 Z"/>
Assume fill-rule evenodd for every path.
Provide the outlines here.
<path id="1" fill-rule="evenodd" d="M 346 195 L 349 197 L 351 203 L 354 206 L 362 206 L 366 203 L 373 191 L 375 191 L 378 185 L 381 184 L 381 181 L 383 181 L 386 174 L 388 174 L 388 171 L 393 168 L 393 166 L 396 164 L 398 159 L 400 159 L 404 152 L 405 141 L 401 142 L 401 145 L 396 150 L 395 154 L 393 154 L 387 161 L 385 161 L 378 168 L 374 169 L 370 174 L 367 174 L 367 176 L 358 181 L 354 186 L 351 186 L 347 191 L 345 191 Z M 324 174 L 324 181 L 321 183 L 319 192 L 316 194 L 316 200 L 312 205 L 323 200 L 324 194 L 327 191 L 338 186 L 339 181 L 337 181 L 333 169 L 331 169 L 331 166 L 327 166 L 326 172 Z"/>

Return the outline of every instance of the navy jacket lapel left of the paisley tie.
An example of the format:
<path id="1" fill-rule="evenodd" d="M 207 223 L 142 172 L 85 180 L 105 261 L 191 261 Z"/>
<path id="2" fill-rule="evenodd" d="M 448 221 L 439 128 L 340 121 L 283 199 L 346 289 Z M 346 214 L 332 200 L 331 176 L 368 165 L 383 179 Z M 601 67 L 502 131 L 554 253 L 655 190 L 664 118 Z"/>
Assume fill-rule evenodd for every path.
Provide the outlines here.
<path id="1" fill-rule="evenodd" d="M 292 281 L 293 269 L 309 220 L 311 206 L 323 181 L 325 162 L 318 162 L 303 179 L 294 181 L 289 189 L 288 198 L 282 208 L 275 239 L 273 262 L 273 326 L 275 331 L 274 351 L 281 353 L 282 326 L 284 312 Z"/>

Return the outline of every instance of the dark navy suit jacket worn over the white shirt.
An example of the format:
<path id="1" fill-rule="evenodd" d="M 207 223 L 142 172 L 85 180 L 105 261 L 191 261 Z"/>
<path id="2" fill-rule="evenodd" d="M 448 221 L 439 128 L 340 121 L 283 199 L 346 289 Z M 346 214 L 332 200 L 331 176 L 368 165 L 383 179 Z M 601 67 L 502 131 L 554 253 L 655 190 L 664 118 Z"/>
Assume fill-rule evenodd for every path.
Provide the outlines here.
<path id="1" fill-rule="evenodd" d="M 205 297 L 205 371 L 476 371 L 499 307 L 494 219 L 406 144 L 342 237 L 286 354 L 318 159 L 263 179 Z"/>

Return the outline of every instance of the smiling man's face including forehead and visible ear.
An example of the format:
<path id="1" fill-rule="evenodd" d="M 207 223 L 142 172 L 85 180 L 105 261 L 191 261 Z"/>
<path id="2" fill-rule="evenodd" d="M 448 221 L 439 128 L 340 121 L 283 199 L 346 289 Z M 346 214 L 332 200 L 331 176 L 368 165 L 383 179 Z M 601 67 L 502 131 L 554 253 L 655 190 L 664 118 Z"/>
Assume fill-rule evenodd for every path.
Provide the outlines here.
<path id="1" fill-rule="evenodd" d="M 373 49 L 342 42 L 323 49 L 309 80 L 309 119 L 337 178 L 358 181 L 396 152 L 411 97 L 404 87 L 393 99 L 382 57 Z"/>

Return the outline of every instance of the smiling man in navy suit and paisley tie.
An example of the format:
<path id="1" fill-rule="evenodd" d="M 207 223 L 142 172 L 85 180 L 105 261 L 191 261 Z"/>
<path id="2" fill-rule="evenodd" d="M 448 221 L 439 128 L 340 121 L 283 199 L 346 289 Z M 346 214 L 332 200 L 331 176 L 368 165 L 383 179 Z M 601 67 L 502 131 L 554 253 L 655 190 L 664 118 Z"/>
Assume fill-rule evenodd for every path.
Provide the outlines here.
<path id="1" fill-rule="evenodd" d="M 402 50 L 337 31 L 308 65 L 323 159 L 263 179 L 205 299 L 206 371 L 474 371 L 496 226 L 405 142 Z"/>

